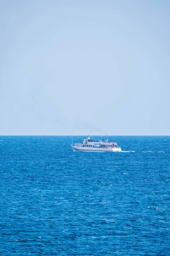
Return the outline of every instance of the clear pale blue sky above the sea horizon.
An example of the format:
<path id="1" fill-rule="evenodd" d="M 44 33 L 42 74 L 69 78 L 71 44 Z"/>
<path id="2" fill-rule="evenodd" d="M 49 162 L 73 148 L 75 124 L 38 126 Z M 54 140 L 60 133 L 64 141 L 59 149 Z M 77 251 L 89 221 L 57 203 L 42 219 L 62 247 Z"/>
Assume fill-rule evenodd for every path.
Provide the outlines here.
<path id="1" fill-rule="evenodd" d="M 0 135 L 170 135 L 169 0 L 0 0 Z"/>

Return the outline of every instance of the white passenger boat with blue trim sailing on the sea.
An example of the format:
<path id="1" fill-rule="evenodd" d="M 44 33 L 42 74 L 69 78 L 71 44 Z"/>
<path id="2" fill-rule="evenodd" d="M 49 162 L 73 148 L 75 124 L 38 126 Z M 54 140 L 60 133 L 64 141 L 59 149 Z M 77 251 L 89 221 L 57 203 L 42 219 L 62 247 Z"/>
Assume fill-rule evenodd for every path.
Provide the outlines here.
<path id="1" fill-rule="evenodd" d="M 73 151 L 97 151 L 97 152 L 120 152 L 121 148 L 118 147 L 116 142 L 108 142 L 107 140 L 92 140 L 89 137 L 84 139 L 83 143 L 72 143 Z"/>

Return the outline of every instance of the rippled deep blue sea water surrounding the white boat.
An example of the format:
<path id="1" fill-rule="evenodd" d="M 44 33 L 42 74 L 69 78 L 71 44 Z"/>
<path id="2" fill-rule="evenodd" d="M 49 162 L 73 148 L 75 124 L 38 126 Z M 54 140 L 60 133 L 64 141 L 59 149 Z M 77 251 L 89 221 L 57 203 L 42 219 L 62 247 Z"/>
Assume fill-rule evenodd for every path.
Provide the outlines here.
<path id="1" fill-rule="evenodd" d="M 170 255 L 170 137 L 110 136 L 117 153 L 71 141 L 0 137 L 0 255 Z"/>

